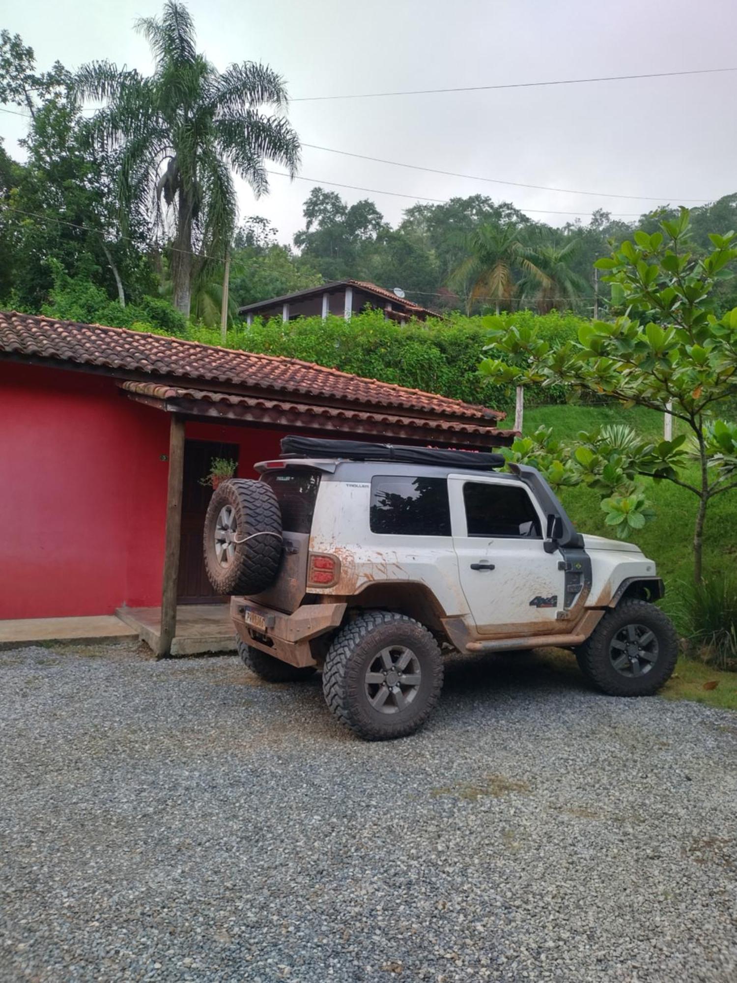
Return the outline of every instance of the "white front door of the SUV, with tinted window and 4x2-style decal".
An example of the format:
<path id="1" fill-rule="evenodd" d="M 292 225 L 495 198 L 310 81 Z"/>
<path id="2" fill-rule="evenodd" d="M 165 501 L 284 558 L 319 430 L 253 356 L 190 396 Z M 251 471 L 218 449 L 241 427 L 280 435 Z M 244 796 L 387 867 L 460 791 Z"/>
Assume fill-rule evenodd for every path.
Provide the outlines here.
<path id="1" fill-rule="evenodd" d="M 479 634 L 559 631 L 556 613 L 564 603 L 560 555 L 543 549 L 544 516 L 525 486 L 450 476 L 448 492 L 461 587 Z M 515 528 L 525 535 L 514 535 Z"/>

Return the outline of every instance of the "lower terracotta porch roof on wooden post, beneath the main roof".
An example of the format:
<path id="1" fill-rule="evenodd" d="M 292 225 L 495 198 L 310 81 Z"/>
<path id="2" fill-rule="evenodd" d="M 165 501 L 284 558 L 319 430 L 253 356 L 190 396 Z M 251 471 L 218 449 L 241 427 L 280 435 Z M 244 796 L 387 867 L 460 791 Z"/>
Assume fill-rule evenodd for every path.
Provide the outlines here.
<path id="1" fill-rule="evenodd" d="M 228 392 L 210 392 L 174 385 L 160 385 L 155 382 L 128 381 L 121 382 L 120 386 L 135 398 L 168 403 L 172 409 L 179 411 L 186 411 L 188 403 L 206 403 L 212 407 L 212 416 L 237 416 L 243 419 L 250 416 L 249 411 L 255 411 L 255 418 L 273 424 L 288 425 L 289 419 L 285 418 L 292 417 L 299 418 L 301 425 L 305 426 L 305 416 L 312 416 L 315 418 L 315 428 L 324 428 L 325 421 L 330 420 L 334 422 L 332 429 L 339 430 L 341 422 L 347 422 L 352 425 L 351 430 L 353 432 L 361 430 L 363 424 L 371 424 L 383 428 L 383 432 L 386 434 L 390 434 L 392 431 L 410 429 L 412 431 L 432 431 L 436 439 L 451 439 L 455 435 L 459 437 L 477 435 L 480 437 L 479 442 L 482 446 L 487 446 L 489 437 L 493 437 L 496 443 L 508 443 L 516 435 L 516 431 L 497 430 L 482 423 L 397 416 L 381 410 L 341 409 L 333 406 L 298 403 L 289 399 L 264 399 Z M 237 413 L 231 412 L 234 408 L 238 410 Z"/>

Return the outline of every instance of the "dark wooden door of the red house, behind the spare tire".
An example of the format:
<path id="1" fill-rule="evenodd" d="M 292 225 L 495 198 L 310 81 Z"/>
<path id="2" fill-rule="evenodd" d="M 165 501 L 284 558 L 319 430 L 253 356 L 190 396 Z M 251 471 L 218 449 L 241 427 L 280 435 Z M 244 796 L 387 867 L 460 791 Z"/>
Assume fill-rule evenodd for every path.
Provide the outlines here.
<path id="1" fill-rule="evenodd" d="M 183 605 L 216 604 L 227 601 L 215 594 L 204 569 L 202 527 L 212 496 L 209 486 L 200 485 L 215 457 L 238 461 L 237 443 L 210 440 L 185 441 L 182 488 L 182 542 L 179 553 L 178 602 Z"/>

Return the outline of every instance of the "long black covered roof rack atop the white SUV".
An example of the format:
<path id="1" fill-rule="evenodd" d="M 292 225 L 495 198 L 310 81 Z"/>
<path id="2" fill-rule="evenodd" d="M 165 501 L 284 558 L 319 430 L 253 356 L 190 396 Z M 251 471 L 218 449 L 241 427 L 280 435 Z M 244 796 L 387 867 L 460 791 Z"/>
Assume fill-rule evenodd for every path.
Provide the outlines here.
<path id="1" fill-rule="evenodd" d="M 493 471 L 506 463 L 501 454 L 476 450 L 442 450 L 408 447 L 362 440 L 323 440 L 312 436 L 285 436 L 282 457 L 331 457 L 347 461 L 395 461 L 400 464 L 434 464 L 444 467 Z"/>

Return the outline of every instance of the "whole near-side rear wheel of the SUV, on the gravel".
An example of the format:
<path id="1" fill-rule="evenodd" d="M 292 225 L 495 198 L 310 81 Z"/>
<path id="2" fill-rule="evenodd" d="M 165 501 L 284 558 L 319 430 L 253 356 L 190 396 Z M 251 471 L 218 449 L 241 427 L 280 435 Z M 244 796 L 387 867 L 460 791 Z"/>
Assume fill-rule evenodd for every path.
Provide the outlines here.
<path id="1" fill-rule="evenodd" d="M 396 668 L 385 669 L 385 661 Z M 369 676 L 382 675 L 384 681 L 369 682 Z M 413 733 L 434 709 L 442 684 L 443 662 L 435 639 L 419 621 L 393 611 L 365 611 L 346 624 L 322 668 L 328 707 L 365 740 Z"/>

